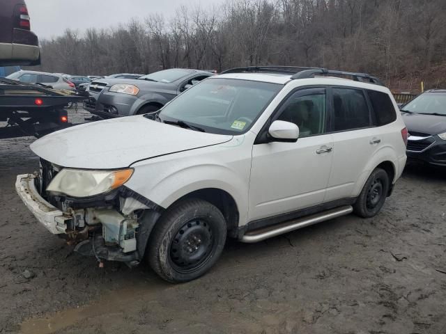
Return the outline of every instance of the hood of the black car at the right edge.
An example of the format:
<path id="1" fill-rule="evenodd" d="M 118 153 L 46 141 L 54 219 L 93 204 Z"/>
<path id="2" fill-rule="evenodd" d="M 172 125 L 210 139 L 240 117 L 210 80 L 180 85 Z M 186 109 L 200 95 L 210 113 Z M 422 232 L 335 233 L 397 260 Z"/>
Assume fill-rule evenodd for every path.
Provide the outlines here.
<path id="1" fill-rule="evenodd" d="M 409 134 L 410 132 L 419 132 L 434 135 L 446 132 L 446 116 L 403 113 L 403 120 Z"/>

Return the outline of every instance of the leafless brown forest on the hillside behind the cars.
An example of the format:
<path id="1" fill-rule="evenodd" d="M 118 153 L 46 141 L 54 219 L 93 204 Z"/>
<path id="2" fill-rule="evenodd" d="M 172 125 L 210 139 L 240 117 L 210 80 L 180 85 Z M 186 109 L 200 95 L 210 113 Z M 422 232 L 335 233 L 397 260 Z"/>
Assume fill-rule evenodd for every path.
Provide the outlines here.
<path id="1" fill-rule="evenodd" d="M 98 16 L 98 19 L 105 19 Z M 239 0 L 43 40 L 43 70 L 149 73 L 301 65 L 369 72 L 394 89 L 446 85 L 445 0 Z M 94 26 L 94 22 L 87 23 Z"/>

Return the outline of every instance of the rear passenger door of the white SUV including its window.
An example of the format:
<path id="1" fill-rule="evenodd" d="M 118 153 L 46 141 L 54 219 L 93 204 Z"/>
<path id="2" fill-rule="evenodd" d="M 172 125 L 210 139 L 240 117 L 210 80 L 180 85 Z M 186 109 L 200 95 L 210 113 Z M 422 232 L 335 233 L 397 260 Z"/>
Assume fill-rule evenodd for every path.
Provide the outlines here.
<path id="1" fill-rule="evenodd" d="M 357 180 L 367 170 L 367 162 L 383 145 L 383 136 L 374 125 L 367 93 L 362 88 L 329 88 L 330 132 L 333 162 L 325 202 L 351 198 Z"/>

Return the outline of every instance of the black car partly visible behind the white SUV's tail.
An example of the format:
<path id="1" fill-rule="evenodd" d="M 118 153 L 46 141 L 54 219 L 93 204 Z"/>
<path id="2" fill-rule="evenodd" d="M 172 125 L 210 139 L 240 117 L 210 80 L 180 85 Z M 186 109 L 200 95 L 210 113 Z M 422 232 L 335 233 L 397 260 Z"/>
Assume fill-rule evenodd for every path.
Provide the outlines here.
<path id="1" fill-rule="evenodd" d="M 446 166 L 446 90 L 428 90 L 401 111 L 409 132 L 408 159 Z"/>

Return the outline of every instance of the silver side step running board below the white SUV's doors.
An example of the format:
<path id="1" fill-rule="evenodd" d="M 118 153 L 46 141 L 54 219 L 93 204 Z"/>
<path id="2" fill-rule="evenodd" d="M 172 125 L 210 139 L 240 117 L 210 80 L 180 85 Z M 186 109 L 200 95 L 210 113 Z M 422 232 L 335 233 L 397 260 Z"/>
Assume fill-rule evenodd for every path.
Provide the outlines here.
<path id="1" fill-rule="evenodd" d="M 321 223 L 322 221 L 328 221 L 333 218 L 345 216 L 351 214 L 353 207 L 346 205 L 344 207 L 337 207 L 336 209 L 327 210 L 318 214 L 312 214 L 311 216 L 294 219 L 293 221 L 286 221 L 277 225 L 269 226 L 268 228 L 262 228 L 260 230 L 254 230 L 247 232 L 243 235 L 241 241 L 246 243 L 253 243 L 262 241 L 277 235 L 305 228 L 306 226 Z"/>

